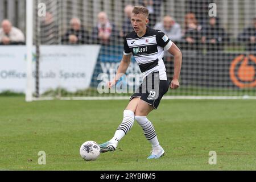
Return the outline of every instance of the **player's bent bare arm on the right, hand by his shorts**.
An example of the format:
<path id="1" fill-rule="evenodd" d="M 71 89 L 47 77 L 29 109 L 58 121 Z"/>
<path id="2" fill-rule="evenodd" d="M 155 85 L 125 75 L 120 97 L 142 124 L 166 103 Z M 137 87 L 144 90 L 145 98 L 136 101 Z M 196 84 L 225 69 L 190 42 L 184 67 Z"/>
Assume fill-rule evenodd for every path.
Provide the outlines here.
<path id="1" fill-rule="evenodd" d="M 179 77 L 182 63 L 182 53 L 174 43 L 172 43 L 172 46 L 168 50 L 168 52 L 170 52 L 174 56 L 174 77 L 172 78 L 170 88 L 177 89 L 180 86 Z"/>

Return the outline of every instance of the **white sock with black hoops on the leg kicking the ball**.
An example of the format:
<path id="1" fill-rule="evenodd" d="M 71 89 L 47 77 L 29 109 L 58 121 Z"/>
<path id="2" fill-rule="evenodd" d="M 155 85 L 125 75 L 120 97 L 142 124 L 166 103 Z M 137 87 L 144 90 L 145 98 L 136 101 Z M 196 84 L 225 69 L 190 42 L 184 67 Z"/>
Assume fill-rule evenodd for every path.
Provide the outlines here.
<path id="1" fill-rule="evenodd" d="M 123 111 L 123 121 L 115 131 L 114 137 L 109 142 L 118 142 L 130 131 L 134 123 L 134 112 L 131 110 Z"/>

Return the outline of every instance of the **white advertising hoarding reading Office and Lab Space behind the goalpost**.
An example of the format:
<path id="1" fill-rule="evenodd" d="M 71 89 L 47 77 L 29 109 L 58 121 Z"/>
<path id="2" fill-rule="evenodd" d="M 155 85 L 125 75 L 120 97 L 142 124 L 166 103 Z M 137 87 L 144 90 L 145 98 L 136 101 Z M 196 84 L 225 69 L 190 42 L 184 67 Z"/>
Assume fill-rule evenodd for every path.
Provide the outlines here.
<path id="1" fill-rule="evenodd" d="M 41 46 L 40 93 L 57 87 L 71 92 L 88 88 L 99 51 L 97 45 Z M 35 79 L 35 60 L 33 76 Z M 0 46 L 0 92 L 25 92 L 25 89 L 26 46 Z"/>

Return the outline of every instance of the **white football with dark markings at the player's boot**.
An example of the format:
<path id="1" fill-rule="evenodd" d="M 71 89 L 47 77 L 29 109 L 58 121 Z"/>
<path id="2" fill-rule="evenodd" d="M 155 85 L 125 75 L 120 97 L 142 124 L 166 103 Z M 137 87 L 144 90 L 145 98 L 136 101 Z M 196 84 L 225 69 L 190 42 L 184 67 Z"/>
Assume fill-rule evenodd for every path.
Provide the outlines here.
<path id="1" fill-rule="evenodd" d="M 96 160 L 100 156 L 100 146 L 94 141 L 87 141 L 80 147 L 80 155 L 84 160 Z"/>

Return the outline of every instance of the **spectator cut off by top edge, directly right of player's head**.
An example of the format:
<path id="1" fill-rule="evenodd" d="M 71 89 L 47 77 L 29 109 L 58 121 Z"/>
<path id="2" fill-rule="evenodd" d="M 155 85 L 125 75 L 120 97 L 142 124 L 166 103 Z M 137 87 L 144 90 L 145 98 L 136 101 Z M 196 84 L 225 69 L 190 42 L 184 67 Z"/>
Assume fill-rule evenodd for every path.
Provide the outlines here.
<path id="1" fill-rule="evenodd" d="M 158 17 L 161 15 L 162 0 L 139 0 L 139 3 L 150 11 L 148 26 L 154 27 L 156 22 L 160 21 Z"/>

